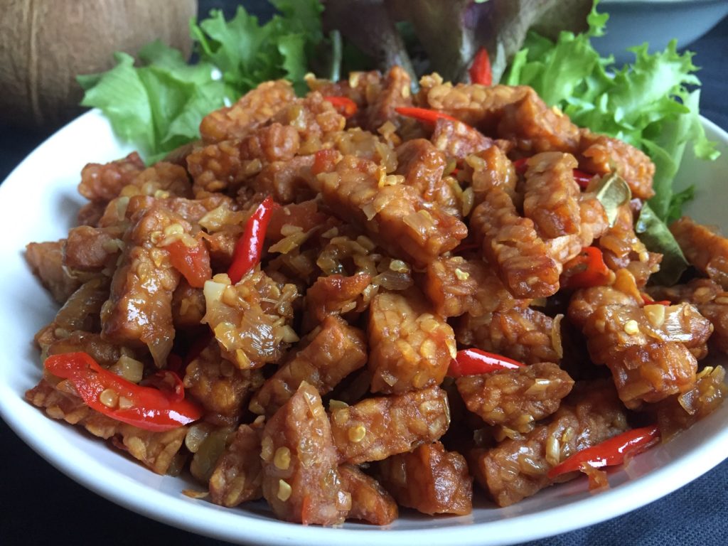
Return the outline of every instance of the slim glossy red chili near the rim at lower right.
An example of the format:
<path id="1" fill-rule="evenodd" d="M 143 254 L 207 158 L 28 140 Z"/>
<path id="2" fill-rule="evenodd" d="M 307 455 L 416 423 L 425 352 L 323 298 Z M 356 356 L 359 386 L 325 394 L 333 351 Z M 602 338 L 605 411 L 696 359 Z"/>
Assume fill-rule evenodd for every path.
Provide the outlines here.
<path id="1" fill-rule="evenodd" d="M 660 439 L 656 425 L 628 430 L 596 446 L 582 449 L 548 471 L 553 480 L 562 474 L 582 470 L 583 467 L 611 467 L 625 462 L 626 456 L 633 456 L 651 447 Z"/>

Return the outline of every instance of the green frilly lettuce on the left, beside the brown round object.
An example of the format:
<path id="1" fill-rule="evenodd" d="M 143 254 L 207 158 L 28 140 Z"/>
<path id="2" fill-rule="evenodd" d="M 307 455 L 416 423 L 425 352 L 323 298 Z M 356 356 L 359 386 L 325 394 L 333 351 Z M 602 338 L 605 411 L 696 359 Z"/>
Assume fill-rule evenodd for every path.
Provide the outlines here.
<path id="1" fill-rule="evenodd" d="M 116 53 L 116 66 L 79 76 L 83 106 L 100 108 L 116 135 L 153 163 L 199 138 L 199 123 L 269 79 L 287 78 L 306 90 L 304 76 L 314 47 L 323 41 L 319 0 L 272 0 L 281 15 L 264 24 L 239 7 L 226 21 L 213 10 L 190 23 L 199 59 L 189 65 L 178 50 L 155 41 L 138 62 Z"/>

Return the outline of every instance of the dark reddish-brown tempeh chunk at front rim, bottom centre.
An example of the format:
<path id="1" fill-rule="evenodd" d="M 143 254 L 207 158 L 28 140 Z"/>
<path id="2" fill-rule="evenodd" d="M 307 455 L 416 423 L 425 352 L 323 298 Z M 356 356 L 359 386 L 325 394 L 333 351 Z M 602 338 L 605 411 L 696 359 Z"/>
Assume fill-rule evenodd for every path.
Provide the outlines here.
<path id="1" fill-rule="evenodd" d="M 379 473 L 402 506 L 430 515 L 472 512 L 472 478 L 465 458 L 446 451 L 440 442 L 385 459 L 379 463 Z"/>

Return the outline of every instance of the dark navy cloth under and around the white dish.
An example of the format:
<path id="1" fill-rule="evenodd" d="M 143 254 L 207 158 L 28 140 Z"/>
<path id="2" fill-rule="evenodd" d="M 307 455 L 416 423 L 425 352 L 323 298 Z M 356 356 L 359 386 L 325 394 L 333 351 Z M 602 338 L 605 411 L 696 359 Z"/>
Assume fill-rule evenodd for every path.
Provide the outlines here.
<path id="1" fill-rule="evenodd" d="M 204 12 L 223 3 L 200 2 Z M 255 9 L 261 2 L 247 4 L 256 4 Z M 703 67 L 703 114 L 728 128 L 728 19 L 690 49 Z M 0 126 L 0 181 L 46 136 Z M 151 521 L 90 493 L 31 451 L 1 420 L 0 477 L 4 545 L 224 544 Z M 423 539 L 426 544 L 427 537 Z M 633 513 L 529 545 L 728 545 L 728 462 Z"/>

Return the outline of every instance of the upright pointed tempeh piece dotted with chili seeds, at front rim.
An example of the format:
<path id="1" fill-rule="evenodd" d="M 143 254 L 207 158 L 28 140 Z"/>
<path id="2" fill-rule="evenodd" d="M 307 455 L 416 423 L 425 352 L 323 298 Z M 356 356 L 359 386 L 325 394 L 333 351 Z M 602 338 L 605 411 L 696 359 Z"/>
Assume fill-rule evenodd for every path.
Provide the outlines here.
<path id="1" fill-rule="evenodd" d="M 263 430 L 263 496 L 278 518 L 335 525 L 352 506 L 321 397 L 306 382 Z"/>

